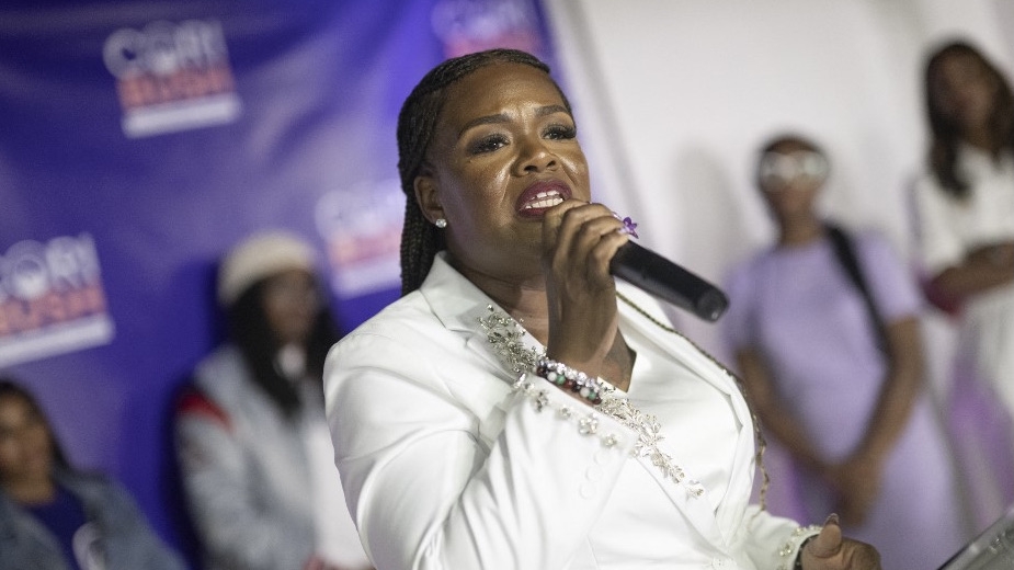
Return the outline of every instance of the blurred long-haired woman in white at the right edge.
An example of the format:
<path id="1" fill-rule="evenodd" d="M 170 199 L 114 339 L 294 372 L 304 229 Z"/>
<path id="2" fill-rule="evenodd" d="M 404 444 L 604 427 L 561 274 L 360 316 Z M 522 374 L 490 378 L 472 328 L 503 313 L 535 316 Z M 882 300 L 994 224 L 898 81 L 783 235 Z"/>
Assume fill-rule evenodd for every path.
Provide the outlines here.
<path id="1" fill-rule="evenodd" d="M 1014 502 L 1014 96 L 964 42 L 933 52 L 925 95 L 932 139 L 914 196 L 920 262 L 930 290 L 960 307 L 953 406 L 966 418 L 955 430 L 982 526 Z M 984 397 L 961 412 L 975 391 Z"/>

